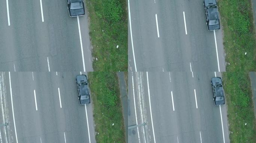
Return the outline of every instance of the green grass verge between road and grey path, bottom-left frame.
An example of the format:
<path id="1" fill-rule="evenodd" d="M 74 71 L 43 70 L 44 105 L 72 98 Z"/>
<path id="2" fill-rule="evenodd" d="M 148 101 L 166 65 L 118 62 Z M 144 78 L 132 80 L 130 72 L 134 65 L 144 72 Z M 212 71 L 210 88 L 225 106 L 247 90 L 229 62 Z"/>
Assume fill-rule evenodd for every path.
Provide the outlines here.
<path id="1" fill-rule="evenodd" d="M 118 77 L 114 72 L 90 72 L 97 143 L 125 143 Z M 113 125 L 114 124 L 114 125 Z"/>

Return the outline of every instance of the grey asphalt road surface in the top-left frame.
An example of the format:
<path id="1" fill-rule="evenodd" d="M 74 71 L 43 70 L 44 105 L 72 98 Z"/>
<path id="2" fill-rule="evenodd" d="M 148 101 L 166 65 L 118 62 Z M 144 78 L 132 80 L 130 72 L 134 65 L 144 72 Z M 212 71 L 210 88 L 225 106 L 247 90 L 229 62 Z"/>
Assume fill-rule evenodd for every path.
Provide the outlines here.
<path id="1" fill-rule="evenodd" d="M 0 71 L 93 71 L 87 14 L 78 25 L 66 1 L 42 0 L 41 12 L 40 1 L 15 0 L 9 1 L 8 26 L 3 3 Z"/>

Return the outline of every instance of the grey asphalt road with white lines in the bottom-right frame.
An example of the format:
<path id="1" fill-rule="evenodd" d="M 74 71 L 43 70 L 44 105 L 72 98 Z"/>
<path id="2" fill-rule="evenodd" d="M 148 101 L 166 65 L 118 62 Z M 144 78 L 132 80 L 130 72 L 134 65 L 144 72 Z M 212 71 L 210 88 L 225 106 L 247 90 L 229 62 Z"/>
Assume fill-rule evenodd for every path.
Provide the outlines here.
<path id="1" fill-rule="evenodd" d="M 149 85 L 146 72 L 132 75 L 134 95 L 129 92 L 128 99 L 132 102 L 128 107 L 131 111 L 128 125 L 136 124 L 134 108 L 137 124 L 146 122 L 147 125 L 130 129 L 129 142 L 215 143 L 223 142 L 223 133 L 225 142 L 230 142 L 226 106 L 221 106 L 220 117 L 220 107 L 213 103 L 210 78 L 215 76 L 214 72 L 196 72 L 193 77 L 192 72 L 149 72 Z M 131 77 L 129 81 L 131 90 Z"/>

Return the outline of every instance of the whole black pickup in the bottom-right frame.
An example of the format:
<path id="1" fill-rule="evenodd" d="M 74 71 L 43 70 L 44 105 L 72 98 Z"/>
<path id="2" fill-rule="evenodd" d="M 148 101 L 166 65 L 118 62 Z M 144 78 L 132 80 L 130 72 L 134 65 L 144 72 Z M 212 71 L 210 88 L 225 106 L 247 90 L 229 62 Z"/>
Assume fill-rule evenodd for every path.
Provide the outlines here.
<path id="1" fill-rule="evenodd" d="M 220 77 L 211 78 L 211 86 L 213 88 L 213 100 L 215 105 L 225 104 L 222 80 Z"/>

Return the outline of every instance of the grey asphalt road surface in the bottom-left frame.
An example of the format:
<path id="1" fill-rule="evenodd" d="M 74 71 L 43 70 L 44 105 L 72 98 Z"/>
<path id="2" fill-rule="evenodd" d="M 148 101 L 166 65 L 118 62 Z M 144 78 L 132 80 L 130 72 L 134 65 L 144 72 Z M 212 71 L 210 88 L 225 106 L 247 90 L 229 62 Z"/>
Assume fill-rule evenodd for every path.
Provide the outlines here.
<path id="1" fill-rule="evenodd" d="M 92 104 L 86 107 L 79 105 L 75 83 L 77 74 L 80 73 L 10 72 L 15 127 L 19 143 L 96 143 Z M 16 142 L 9 72 L 5 72 L 4 75 L 10 119 L 9 136 L 12 136 L 13 142 Z"/>

